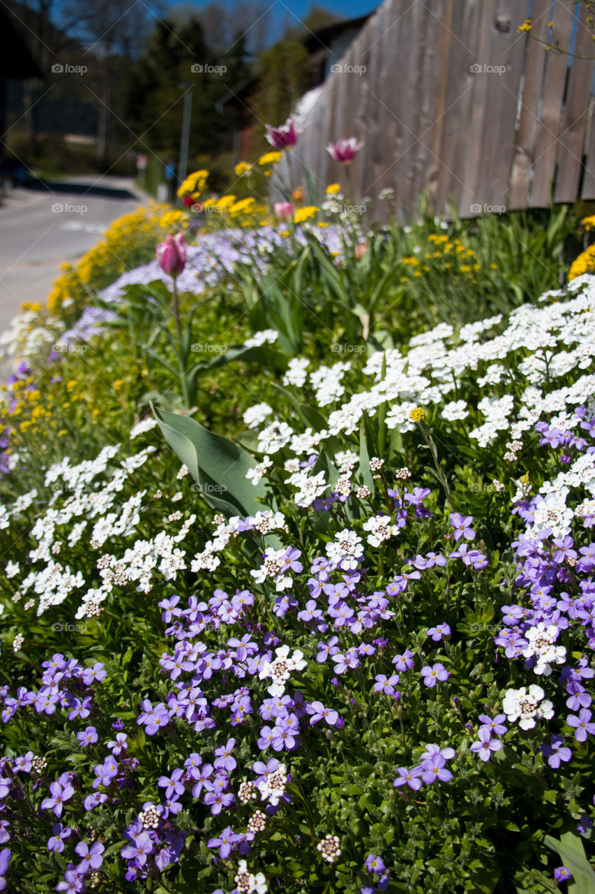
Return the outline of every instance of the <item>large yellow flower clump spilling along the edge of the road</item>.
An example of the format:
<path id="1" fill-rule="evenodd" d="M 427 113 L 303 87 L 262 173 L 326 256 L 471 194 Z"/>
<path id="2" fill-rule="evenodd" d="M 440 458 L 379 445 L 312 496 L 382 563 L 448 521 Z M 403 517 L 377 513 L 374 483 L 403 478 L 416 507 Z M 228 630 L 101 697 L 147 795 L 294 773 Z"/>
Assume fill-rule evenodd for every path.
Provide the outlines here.
<path id="1" fill-rule="evenodd" d="M 124 273 L 155 257 L 155 246 L 184 215 L 168 205 L 140 207 L 130 215 L 113 221 L 102 239 L 75 264 L 63 264 L 62 274 L 54 283 L 47 306 L 59 313 L 65 299 L 77 307 L 93 289 L 104 289 Z"/>

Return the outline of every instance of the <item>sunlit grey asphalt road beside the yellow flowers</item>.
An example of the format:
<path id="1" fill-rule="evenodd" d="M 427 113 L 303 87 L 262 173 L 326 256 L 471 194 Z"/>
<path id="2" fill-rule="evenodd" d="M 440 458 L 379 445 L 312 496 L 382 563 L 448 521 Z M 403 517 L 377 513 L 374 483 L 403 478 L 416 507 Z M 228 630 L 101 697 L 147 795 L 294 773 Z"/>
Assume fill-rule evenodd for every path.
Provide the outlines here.
<path id="1" fill-rule="evenodd" d="M 10 189 L 0 205 L 0 332 L 23 301 L 46 301 L 59 267 L 147 201 L 120 177 L 72 177 L 45 190 Z"/>

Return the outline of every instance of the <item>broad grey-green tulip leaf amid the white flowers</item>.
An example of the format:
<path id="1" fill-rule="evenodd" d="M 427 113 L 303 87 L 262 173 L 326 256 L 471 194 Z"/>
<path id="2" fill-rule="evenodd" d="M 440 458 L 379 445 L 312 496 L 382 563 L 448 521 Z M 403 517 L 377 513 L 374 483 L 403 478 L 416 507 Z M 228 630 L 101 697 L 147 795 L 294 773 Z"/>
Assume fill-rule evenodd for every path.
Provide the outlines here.
<path id="1" fill-rule="evenodd" d="M 246 473 L 254 461 L 239 443 L 214 434 L 196 419 L 153 408 L 163 437 L 201 485 L 205 500 L 230 515 L 254 515 L 263 509 L 262 482 L 253 485 Z"/>

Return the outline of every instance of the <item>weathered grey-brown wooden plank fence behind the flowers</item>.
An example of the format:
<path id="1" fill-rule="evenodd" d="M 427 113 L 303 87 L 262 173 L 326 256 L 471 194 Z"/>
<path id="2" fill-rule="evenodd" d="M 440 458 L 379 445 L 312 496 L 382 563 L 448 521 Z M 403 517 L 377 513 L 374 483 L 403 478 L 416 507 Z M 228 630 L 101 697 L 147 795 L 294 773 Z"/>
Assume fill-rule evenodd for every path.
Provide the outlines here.
<path id="1" fill-rule="evenodd" d="M 341 182 L 352 200 L 380 190 L 413 209 L 423 192 L 436 211 L 549 207 L 595 199 L 595 41 L 592 13 L 573 0 L 385 0 L 324 82 L 310 126 L 283 159 L 293 183 Z M 563 55 L 547 41 L 548 23 Z M 575 21 L 577 18 L 577 21 Z M 579 56 L 591 58 L 578 58 Z M 328 142 L 357 136 L 349 166 Z"/>

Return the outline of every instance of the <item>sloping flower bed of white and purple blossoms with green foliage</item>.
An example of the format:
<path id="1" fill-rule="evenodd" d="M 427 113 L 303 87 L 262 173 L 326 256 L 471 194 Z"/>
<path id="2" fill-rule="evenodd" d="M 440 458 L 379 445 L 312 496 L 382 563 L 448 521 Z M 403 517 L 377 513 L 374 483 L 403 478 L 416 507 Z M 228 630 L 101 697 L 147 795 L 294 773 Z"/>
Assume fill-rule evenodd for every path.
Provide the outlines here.
<path id="1" fill-rule="evenodd" d="M 419 232 L 317 230 L 170 240 L 9 386 L 0 890 L 593 890 L 595 277 L 389 339 Z"/>

